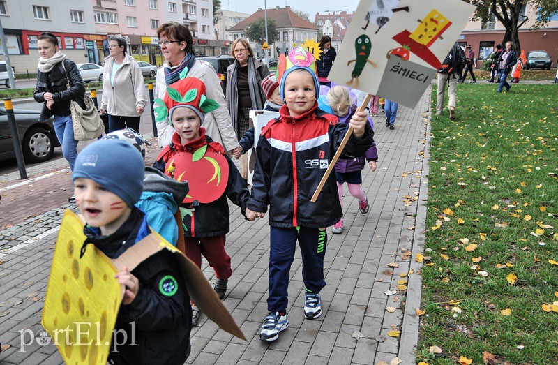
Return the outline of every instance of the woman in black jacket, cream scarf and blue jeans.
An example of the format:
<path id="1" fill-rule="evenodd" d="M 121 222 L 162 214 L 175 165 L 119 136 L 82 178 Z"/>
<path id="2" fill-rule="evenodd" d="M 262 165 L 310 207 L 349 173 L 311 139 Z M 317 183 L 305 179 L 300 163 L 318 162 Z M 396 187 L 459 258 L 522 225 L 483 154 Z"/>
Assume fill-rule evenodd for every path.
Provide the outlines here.
<path id="1" fill-rule="evenodd" d="M 33 96 L 36 102 L 44 103 L 39 121 L 45 121 L 54 115 L 54 131 L 62 146 L 62 155 L 73 171 L 77 158 L 77 140 L 74 138 L 70 101 L 75 98 L 85 108 L 82 76 L 73 61 L 60 52 L 58 38 L 54 34 L 41 34 L 37 47 L 40 58 Z M 70 84 L 69 89 L 67 84 Z"/>

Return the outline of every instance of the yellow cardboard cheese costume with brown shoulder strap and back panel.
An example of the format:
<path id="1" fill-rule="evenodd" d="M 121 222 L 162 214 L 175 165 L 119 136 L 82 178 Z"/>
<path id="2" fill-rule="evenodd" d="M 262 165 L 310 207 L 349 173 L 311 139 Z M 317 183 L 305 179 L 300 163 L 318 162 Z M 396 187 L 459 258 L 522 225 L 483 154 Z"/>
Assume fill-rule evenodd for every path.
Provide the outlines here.
<path id="1" fill-rule="evenodd" d="M 124 286 L 114 275 L 124 266 L 133 271 L 163 249 L 176 254 L 173 256 L 180 267 L 181 280 L 199 310 L 225 331 L 246 341 L 202 271 L 159 234 L 152 232 L 116 260 L 110 260 L 93 245 L 88 245 L 80 258 L 86 239 L 83 228 L 83 221 L 66 210 L 54 249 L 41 320 L 66 364 L 106 364 L 124 296 Z"/>

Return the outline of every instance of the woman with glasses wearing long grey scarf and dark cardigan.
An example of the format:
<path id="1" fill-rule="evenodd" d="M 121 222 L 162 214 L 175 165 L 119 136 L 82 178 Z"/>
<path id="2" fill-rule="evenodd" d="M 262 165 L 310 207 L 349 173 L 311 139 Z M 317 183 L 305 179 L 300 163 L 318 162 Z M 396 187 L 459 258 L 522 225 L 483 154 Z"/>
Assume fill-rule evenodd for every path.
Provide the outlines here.
<path id="1" fill-rule="evenodd" d="M 227 68 L 227 105 L 231 113 L 232 126 L 240 140 L 248 131 L 250 110 L 264 110 L 266 94 L 262 80 L 269 75 L 265 64 L 254 58 L 254 51 L 246 39 L 237 38 L 232 43 L 235 61 Z M 240 154 L 235 155 L 239 158 Z M 242 177 L 248 177 L 248 155 L 241 158 Z"/>

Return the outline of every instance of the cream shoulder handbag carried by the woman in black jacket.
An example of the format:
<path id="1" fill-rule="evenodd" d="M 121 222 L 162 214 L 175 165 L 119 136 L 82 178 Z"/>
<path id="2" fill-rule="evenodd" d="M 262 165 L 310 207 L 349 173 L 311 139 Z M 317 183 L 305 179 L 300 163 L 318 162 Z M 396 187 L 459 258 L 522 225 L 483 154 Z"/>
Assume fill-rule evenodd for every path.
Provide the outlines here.
<path id="1" fill-rule="evenodd" d="M 66 78 L 68 79 L 68 89 L 70 89 L 70 77 L 68 76 L 68 71 L 66 71 L 66 66 L 64 61 L 62 61 L 62 67 L 64 68 L 64 73 L 66 73 Z M 80 96 L 77 96 L 78 98 Z M 83 109 L 79 103 L 75 100 L 70 100 L 70 112 L 72 114 L 72 124 L 74 127 L 74 139 L 77 141 L 89 141 L 94 140 L 97 137 L 103 135 L 105 131 L 105 125 L 103 120 L 100 119 L 100 114 L 91 96 L 84 94 L 82 96 L 85 109 Z"/>

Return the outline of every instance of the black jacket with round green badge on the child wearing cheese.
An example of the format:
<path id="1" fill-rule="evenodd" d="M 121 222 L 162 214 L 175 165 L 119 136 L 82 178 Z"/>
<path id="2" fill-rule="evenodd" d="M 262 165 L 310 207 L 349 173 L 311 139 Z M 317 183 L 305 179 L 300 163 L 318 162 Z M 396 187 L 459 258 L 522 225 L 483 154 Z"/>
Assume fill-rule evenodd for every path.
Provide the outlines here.
<path id="1" fill-rule="evenodd" d="M 128 220 L 110 236 L 100 236 L 98 228 L 86 226 L 84 248 L 94 244 L 114 259 L 150 233 L 144 213 L 135 207 Z M 140 290 L 130 304 L 120 307 L 110 364 L 183 364 L 188 358 L 190 296 L 172 255 L 167 250 L 160 251 L 131 271 L 140 281 Z"/>

